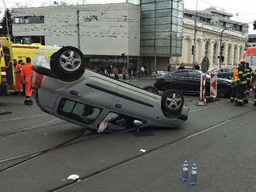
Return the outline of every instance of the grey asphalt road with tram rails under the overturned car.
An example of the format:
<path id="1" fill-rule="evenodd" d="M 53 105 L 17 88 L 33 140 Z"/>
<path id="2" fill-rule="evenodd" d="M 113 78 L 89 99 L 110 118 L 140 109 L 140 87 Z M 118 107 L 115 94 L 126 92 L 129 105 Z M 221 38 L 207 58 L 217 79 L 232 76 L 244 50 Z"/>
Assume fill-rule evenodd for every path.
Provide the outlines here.
<path id="1" fill-rule="evenodd" d="M 255 191 L 256 108 L 197 99 L 185 96 L 189 120 L 179 129 L 85 136 L 22 97 L 1 96 L 0 111 L 12 113 L 0 115 L 0 191 Z M 181 180 L 184 160 L 198 167 L 195 186 Z"/>

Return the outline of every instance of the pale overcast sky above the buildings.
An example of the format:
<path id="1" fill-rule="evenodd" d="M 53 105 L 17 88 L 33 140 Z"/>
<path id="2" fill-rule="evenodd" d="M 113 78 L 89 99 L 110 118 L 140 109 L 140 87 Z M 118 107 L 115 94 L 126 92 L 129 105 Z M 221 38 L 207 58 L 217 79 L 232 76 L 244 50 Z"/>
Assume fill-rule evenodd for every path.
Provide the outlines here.
<path id="1" fill-rule="evenodd" d="M 61 0 L 2 0 L 5 2 L 6 8 L 12 9 L 14 7 L 38 7 L 38 6 L 49 6 Z M 0 11 L 4 12 L 4 4 L 0 0 Z M 223 9 L 225 12 L 229 12 L 234 15 L 232 20 L 238 22 L 254 22 L 256 20 L 256 0 L 183 0 L 185 9 L 190 10 L 202 10 L 207 9 L 210 6 L 216 7 L 216 9 Z M 71 4 L 82 4 L 85 3 L 109 3 L 109 2 L 125 2 L 125 0 L 62 0 Z M 197 5 L 197 6 L 196 6 Z M 249 24 L 249 34 L 256 34 L 256 30 L 253 30 L 253 24 Z"/>

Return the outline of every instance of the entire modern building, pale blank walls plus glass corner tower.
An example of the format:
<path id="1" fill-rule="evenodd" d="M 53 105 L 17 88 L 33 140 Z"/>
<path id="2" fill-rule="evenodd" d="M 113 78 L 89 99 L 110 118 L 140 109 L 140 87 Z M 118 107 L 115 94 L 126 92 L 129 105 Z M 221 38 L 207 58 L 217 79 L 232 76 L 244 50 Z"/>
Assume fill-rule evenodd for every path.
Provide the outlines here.
<path id="1" fill-rule="evenodd" d="M 90 67 L 113 63 L 161 70 L 171 57 L 182 56 L 183 7 L 181 0 L 128 0 L 12 9 L 13 36 L 16 43 L 57 46 L 78 46 L 80 36 Z"/>

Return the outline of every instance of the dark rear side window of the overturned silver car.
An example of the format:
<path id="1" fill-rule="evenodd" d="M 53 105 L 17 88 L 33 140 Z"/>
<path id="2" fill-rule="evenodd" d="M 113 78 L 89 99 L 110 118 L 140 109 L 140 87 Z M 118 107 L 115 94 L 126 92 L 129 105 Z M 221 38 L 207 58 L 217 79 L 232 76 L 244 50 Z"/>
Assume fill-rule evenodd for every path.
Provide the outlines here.
<path id="1" fill-rule="evenodd" d="M 85 105 L 76 101 L 62 98 L 57 113 L 67 118 L 72 118 L 78 122 L 92 124 L 99 116 L 101 108 Z"/>

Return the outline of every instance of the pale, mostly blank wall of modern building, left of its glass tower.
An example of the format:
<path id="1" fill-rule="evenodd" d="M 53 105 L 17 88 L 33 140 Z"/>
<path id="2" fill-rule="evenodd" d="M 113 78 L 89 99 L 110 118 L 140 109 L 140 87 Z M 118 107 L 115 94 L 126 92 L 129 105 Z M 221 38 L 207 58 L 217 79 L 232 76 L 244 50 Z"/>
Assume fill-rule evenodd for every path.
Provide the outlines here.
<path id="1" fill-rule="evenodd" d="M 12 17 L 15 43 L 80 46 L 92 68 L 110 64 L 123 67 L 127 63 L 137 66 L 139 62 L 140 5 L 19 8 L 12 9 Z M 121 57 L 123 53 L 130 62 Z"/>

